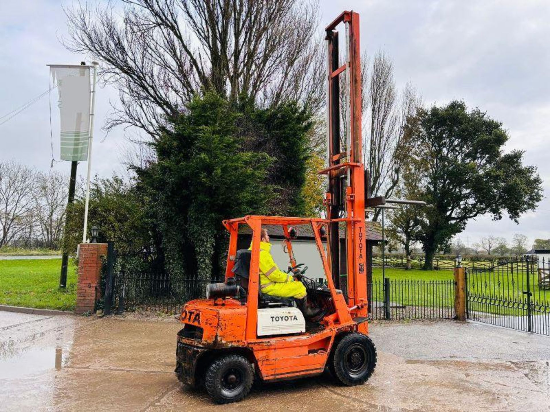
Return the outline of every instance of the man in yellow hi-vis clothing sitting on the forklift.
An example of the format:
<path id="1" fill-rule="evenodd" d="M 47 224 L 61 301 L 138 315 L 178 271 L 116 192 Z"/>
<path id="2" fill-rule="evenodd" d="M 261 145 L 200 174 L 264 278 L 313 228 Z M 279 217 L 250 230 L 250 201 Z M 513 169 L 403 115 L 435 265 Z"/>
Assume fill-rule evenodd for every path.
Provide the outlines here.
<path id="1" fill-rule="evenodd" d="M 281 298 L 294 298 L 296 305 L 306 318 L 319 313 L 318 309 L 311 309 L 307 304 L 306 287 L 299 280 L 282 270 L 271 256 L 271 243 L 267 230 L 262 229 L 260 235 L 260 287 L 262 293 Z M 252 244 L 249 250 L 252 250 Z"/>

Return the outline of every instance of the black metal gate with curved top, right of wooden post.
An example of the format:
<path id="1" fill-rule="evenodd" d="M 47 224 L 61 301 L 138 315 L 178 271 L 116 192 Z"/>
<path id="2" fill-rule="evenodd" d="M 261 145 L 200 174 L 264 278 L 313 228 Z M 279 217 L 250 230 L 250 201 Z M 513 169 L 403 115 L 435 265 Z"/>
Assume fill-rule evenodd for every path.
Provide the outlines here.
<path id="1" fill-rule="evenodd" d="M 526 256 L 466 269 L 467 319 L 550 336 L 547 265 Z"/>

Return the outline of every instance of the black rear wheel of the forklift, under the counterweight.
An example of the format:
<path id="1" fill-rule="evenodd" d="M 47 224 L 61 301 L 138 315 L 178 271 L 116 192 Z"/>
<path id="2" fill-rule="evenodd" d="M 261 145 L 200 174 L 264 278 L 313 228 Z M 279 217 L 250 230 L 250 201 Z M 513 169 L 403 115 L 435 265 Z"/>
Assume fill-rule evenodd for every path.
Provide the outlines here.
<path id="1" fill-rule="evenodd" d="M 217 403 L 239 402 L 250 392 L 252 365 L 244 356 L 227 355 L 212 362 L 205 374 L 206 392 Z"/>

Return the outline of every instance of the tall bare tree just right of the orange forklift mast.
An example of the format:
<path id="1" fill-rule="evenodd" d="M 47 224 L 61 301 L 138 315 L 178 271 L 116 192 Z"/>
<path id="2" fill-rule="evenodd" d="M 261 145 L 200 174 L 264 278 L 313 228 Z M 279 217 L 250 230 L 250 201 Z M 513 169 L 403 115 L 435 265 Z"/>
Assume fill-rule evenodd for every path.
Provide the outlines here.
<path id="1" fill-rule="evenodd" d="M 368 70 L 368 60 L 362 57 L 361 76 L 364 82 L 363 147 L 368 168 L 368 193 L 372 196 L 392 196 L 407 153 L 404 133 L 407 118 L 416 112 L 421 99 L 407 84 L 400 93 L 395 86 L 392 60 L 379 51 Z M 377 220 L 379 209 L 373 220 Z"/>

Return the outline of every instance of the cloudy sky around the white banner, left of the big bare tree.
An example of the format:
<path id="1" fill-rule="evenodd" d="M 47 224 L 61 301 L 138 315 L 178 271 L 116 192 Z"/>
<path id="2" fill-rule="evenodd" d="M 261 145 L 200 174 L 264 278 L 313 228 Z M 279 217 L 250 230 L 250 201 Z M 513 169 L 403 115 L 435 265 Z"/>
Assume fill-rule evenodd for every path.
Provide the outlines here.
<path id="1" fill-rule="evenodd" d="M 90 62 L 85 55 L 70 53 L 59 42 L 67 36 L 65 15 L 58 1 L 0 2 L 0 116 L 48 90 L 50 70 L 46 64 Z M 41 170 L 50 168 L 53 154 L 59 160 L 59 111 L 57 92 L 45 96 L 0 126 L 0 160 L 16 159 Z M 110 101 L 117 101 L 112 87 L 98 87 L 94 133 L 92 173 L 111 175 L 124 172 L 119 165 L 122 129 L 106 136 L 101 126 L 109 112 Z M 52 138 L 50 137 L 50 102 Z M 54 164 L 68 173 L 69 162 Z M 86 162 L 79 165 L 86 175 Z"/>

